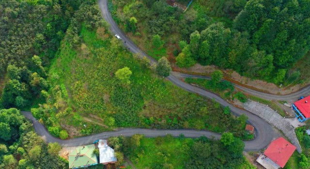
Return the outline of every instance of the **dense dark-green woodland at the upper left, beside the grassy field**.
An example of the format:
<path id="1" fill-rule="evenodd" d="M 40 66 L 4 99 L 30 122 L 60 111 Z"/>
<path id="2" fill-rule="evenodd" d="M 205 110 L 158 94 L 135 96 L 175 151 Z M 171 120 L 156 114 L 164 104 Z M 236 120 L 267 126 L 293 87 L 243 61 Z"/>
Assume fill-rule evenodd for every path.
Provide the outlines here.
<path id="1" fill-rule="evenodd" d="M 0 2 L 0 79 L 8 79 L 0 107 L 29 109 L 44 102 L 50 60 L 81 0 L 2 0 Z"/>

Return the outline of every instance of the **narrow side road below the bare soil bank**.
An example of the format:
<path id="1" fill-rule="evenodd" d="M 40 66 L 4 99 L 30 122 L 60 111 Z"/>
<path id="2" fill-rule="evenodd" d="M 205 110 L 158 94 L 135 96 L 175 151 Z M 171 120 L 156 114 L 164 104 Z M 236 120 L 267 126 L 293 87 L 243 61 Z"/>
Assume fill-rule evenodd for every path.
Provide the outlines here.
<path id="1" fill-rule="evenodd" d="M 181 77 L 181 78 L 211 79 L 210 77 L 207 77 L 207 76 L 190 75 L 190 74 L 184 74 L 184 73 L 179 73 L 179 72 L 173 72 L 173 74 L 175 76 Z M 288 101 L 290 103 L 293 103 L 294 101 L 296 101 L 301 96 L 309 96 L 310 95 L 310 86 L 304 87 L 301 90 L 298 90 L 298 91 L 291 93 L 291 94 L 275 95 L 275 94 L 264 93 L 264 92 L 260 92 L 257 90 L 249 89 L 247 87 L 244 87 L 244 86 L 241 86 L 238 84 L 234 84 L 234 83 L 233 83 L 233 85 L 236 88 L 239 88 L 239 89 L 247 92 L 248 94 L 251 94 L 251 95 L 259 97 L 259 98 L 263 98 L 263 99 L 267 99 L 267 100 L 285 100 L 285 101 Z"/>

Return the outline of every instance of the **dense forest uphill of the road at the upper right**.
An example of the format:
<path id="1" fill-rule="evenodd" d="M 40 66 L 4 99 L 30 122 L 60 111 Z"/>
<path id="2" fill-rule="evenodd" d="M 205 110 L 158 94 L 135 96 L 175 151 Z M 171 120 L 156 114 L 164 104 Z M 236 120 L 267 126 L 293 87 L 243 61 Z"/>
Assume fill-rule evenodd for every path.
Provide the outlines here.
<path id="1" fill-rule="evenodd" d="M 310 47 L 309 0 L 194 0 L 186 12 L 165 0 L 109 2 L 134 42 L 155 58 L 170 55 L 180 68 L 216 65 L 292 84 L 301 76 L 294 64 Z"/>

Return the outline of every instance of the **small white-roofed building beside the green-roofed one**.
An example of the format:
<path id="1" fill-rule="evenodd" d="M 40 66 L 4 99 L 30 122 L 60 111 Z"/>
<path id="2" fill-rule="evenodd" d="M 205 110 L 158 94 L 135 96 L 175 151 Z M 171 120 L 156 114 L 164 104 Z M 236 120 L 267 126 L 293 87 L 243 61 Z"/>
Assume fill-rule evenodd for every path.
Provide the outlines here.
<path id="1" fill-rule="evenodd" d="M 99 161 L 101 164 L 116 163 L 117 159 L 114 154 L 114 150 L 109 147 L 107 140 L 99 140 Z"/>

